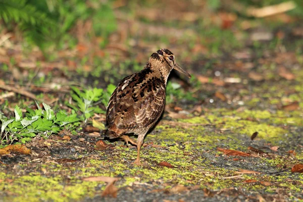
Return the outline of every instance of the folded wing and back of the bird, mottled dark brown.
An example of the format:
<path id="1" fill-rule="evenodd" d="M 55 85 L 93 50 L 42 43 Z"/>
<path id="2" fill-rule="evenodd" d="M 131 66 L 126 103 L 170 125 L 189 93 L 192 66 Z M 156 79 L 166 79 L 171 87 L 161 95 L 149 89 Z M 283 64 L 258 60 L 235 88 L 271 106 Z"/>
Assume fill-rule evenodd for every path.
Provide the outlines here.
<path id="1" fill-rule="evenodd" d="M 147 127 L 160 118 L 165 105 L 165 83 L 162 79 L 141 74 L 128 76 L 118 84 L 108 105 L 109 127 Z"/>

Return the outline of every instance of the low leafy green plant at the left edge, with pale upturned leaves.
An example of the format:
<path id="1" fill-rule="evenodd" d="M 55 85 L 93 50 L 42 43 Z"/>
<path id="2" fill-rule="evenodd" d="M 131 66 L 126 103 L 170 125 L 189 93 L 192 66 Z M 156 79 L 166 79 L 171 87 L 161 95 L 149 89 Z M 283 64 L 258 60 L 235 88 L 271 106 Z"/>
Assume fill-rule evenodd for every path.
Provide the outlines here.
<path id="1" fill-rule="evenodd" d="M 47 138 L 49 135 L 63 130 L 66 126 L 70 130 L 78 126 L 79 119 L 75 113 L 67 115 L 65 111 L 60 111 L 55 114 L 51 107 L 45 103 L 42 105 L 44 110 L 38 104 L 37 110 L 27 108 L 25 117 L 18 106 L 14 110 L 15 117 L 7 118 L 0 112 L 1 144 L 11 144 L 16 141 L 25 143 L 36 135 Z"/>

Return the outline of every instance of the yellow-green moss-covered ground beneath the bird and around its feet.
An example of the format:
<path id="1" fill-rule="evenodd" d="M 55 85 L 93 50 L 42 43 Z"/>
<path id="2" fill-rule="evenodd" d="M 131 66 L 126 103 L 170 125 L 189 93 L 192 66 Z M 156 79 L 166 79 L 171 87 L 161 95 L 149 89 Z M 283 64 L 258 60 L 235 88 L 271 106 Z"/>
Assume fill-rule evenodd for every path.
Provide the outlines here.
<path id="1" fill-rule="evenodd" d="M 176 123 L 210 125 L 188 127 L 180 124 L 172 127 L 160 125 L 160 122 L 146 136 L 144 142 L 147 145 L 141 150 L 142 160 L 148 162 L 148 167 L 133 166 L 131 162 L 135 160 L 136 148 L 126 147 L 122 142 L 106 141 L 115 147 L 96 151 L 93 150 L 95 140 L 85 135 L 81 136 L 87 138 L 85 141 L 73 138 L 68 142 L 55 138 L 49 141 L 52 145 L 49 149 L 35 150 L 41 146 L 36 145 L 33 148 L 35 155 L 2 157 L 8 165 L 0 166 L 0 194 L 5 201 L 84 201 L 99 198 L 106 183 L 82 181 L 82 178 L 111 176 L 119 177 L 116 183 L 120 189 L 118 198 L 122 190 L 136 192 L 140 187 L 146 190 L 142 194 L 153 193 L 157 189 L 163 193 L 179 184 L 189 188 L 197 186 L 193 192 L 198 193 L 207 188 L 218 193 L 213 196 L 218 199 L 227 197 L 225 191 L 228 189 L 237 190 L 238 196 L 243 197 L 255 193 L 256 196 L 250 196 L 251 200 L 257 199 L 257 195 L 275 198 L 277 192 L 284 199 L 301 200 L 303 175 L 291 173 L 290 169 L 302 162 L 302 148 L 300 144 L 289 143 L 300 139 L 301 134 L 296 132 L 296 128 L 301 127 L 301 122 L 285 127 L 283 123 L 298 114 L 283 113 L 277 122 L 279 113 L 210 109 L 203 116 L 176 120 Z M 258 121 L 245 120 L 248 117 Z M 251 141 L 250 135 L 255 131 L 260 135 Z M 275 145 L 280 146 L 277 152 L 269 149 Z M 248 146 L 261 148 L 267 154 L 254 154 L 247 149 Z M 241 150 L 252 156 L 228 157 L 217 147 Z M 288 150 L 295 150 L 296 156 L 288 154 Z M 37 157 L 41 154 L 46 155 Z M 160 162 L 168 162 L 175 168 L 160 167 Z M 241 169 L 259 173 L 241 173 Z M 163 195 L 164 198 L 170 196 Z M 207 196 L 202 197 L 207 199 Z"/>

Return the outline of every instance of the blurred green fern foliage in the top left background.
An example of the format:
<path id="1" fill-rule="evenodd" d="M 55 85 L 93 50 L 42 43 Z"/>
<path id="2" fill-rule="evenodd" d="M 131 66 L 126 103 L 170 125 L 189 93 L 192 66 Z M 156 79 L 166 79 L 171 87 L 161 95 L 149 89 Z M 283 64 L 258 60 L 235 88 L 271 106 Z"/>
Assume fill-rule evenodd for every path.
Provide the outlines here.
<path id="1" fill-rule="evenodd" d="M 98 0 L 0 0 L 0 17 L 9 30 L 17 28 L 42 50 L 60 43 L 78 20 L 90 20 L 93 36 L 106 38 L 117 28 L 111 3 Z M 87 30 L 85 30 L 87 31 Z"/>

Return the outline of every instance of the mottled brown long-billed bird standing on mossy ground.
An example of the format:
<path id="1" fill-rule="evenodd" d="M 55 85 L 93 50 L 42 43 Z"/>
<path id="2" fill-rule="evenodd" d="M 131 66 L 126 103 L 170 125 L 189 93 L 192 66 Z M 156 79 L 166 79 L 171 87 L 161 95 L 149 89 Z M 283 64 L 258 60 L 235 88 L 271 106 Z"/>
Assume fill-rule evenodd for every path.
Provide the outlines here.
<path id="1" fill-rule="evenodd" d="M 105 136 L 110 139 L 120 137 L 126 144 L 137 145 L 136 165 L 141 165 L 140 147 L 144 136 L 163 113 L 166 82 L 172 69 L 191 78 L 176 63 L 172 52 L 160 49 L 150 56 L 142 71 L 125 77 L 110 98 Z M 137 143 L 125 135 L 127 133 L 138 135 Z"/>

